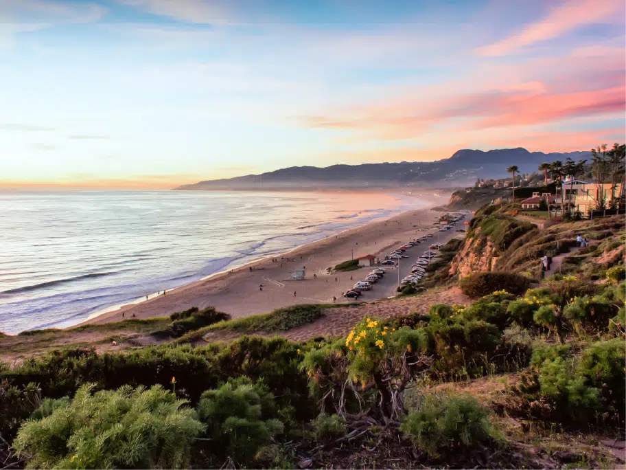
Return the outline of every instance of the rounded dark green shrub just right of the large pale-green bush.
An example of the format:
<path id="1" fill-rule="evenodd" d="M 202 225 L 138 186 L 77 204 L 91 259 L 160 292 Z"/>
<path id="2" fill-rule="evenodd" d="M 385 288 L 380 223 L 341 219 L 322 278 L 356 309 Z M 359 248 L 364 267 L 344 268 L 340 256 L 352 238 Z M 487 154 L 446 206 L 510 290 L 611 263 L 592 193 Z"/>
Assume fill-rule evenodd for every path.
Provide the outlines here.
<path id="1" fill-rule="evenodd" d="M 274 396 L 262 384 L 234 379 L 217 390 L 207 390 L 198 403 L 198 418 L 207 424 L 211 453 L 235 462 L 251 462 L 283 423 L 269 418 L 275 412 Z"/>

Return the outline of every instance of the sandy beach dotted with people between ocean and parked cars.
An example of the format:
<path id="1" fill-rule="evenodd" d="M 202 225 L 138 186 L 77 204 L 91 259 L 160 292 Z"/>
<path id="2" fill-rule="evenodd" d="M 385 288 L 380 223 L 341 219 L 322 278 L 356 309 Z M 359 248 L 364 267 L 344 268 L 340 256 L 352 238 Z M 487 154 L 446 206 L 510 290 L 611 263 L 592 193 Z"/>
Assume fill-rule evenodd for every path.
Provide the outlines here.
<path id="1" fill-rule="evenodd" d="M 353 302 L 344 298 L 343 292 L 356 281 L 362 280 L 371 268 L 332 274 L 327 273 L 327 269 L 368 254 L 382 260 L 391 249 L 426 233 L 434 233 L 431 240 L 437 241 L 439 232 L 433 223 L 440 213 L 430 208 L 445 203 L 448 197 L 449 194 L 432 196 L 426 199 L 429 209 L 408 210 L 385 221 L 356 227 L 274 258 L 259 260 L 235 271 L 167 291 L 165 295 L 102 313 L 84 323 L 114 322 L 131 317 L 162 317 L 192 306 L 200 309 L 215 306 L 218 311 L 237 318 L 269 313 L 292 304 L 332 303 L 334 297 L 338 303 Z M 444 232 L 440 241 L 445 242 L 452 236 L 452 231 Z M 409 261 L 419 257 L 427 248 L 428 245 L 423 243 L 408 250 L 409 258 L 402 260 L 400 276 L 404 277 L 408 272 Z M 305 280 L 292 280 L 295 269 L 305 269 Z M 394 295 L 398 272 L 395 268 L 389 271 L 381 282 L 374 285 L 373 290 L 364 293 L 361 302 Z"/>

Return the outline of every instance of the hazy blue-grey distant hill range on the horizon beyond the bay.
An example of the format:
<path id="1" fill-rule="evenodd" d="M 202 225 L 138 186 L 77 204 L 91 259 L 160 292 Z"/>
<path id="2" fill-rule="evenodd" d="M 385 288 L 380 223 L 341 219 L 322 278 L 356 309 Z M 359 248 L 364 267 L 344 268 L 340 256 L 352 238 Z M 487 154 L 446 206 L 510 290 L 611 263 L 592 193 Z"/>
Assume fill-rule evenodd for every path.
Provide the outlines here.
<path id="1" fill-rule="evenodd" d="M 522 173 L 537 171 L 544 161 L 590 158 L 589 152 L 542 153 L 525 148 L 458 150 L 439 161 L 415 161 L 362 165 L 292 166 L 262 175 L 214 179 L 187 184 L 176 190 L 314 190 L 321 188 L 397 188 L 402 186 L 459 187 L 476 178 L 507 177 L 507 167 L 517 165 Z"/>

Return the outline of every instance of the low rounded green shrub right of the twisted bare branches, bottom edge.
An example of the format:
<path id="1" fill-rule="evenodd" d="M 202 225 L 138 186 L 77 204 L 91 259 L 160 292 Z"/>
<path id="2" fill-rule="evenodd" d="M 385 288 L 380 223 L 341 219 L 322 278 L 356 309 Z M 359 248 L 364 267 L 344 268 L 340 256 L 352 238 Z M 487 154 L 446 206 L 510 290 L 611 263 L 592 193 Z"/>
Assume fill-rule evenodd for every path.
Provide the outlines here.
<path id="1" fill-rule="evenodd" d="M 418 411 L 411 411 L 402 426 L 404 434 L 426 454 L 437 457 L 445 451 L 472 449 L 496 442 L 489 414 L 473 396 L 427 395 Z"/>

